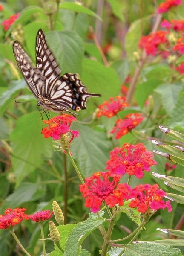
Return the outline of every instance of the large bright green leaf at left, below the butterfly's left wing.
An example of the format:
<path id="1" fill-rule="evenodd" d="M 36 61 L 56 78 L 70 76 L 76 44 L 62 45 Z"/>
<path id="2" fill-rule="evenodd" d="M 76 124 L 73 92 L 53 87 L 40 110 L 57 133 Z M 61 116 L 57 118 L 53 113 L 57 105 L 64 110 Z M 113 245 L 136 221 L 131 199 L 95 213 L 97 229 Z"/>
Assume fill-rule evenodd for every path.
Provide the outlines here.
<path id="1" fill-rule="evenodd" d="M 23 178 L 44 163 L 43 156 L 52 156 L 52 143 L 41 134 L 42 122 L 38 111 L 21 116 L 10 135 L 12 165 L 17 186 Z M 43 171 L 42 171 L 43 172 Z"/>

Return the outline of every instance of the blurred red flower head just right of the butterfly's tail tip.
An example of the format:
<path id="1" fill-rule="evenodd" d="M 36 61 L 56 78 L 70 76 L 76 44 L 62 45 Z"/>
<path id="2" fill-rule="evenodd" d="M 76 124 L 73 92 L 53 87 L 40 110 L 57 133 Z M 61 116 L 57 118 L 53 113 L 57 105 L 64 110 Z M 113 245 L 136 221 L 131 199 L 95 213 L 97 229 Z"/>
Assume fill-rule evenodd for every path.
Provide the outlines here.
<path id="1" fill-rule="evenodd" d="M 116 100 L 112 97 L 98 106 L 99 111 L 97 113 L 97 117 L 107 116 L 110 118 L 115 116 L 119 111 L 124 110 L 125 107 L 129 106 L 129 104 L 125 102 L 125 97 L 116 96 L 115 98 Z"/>

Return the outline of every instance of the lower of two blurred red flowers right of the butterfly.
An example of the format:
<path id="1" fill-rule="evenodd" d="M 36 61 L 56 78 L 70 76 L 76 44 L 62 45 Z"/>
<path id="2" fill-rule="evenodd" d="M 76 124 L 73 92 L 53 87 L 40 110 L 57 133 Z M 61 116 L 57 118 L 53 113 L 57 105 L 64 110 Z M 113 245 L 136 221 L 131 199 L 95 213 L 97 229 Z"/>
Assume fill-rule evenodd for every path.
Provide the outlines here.
<path id="1" fill-rule="evenodd" d="M 118 119 L 116 121 L 115 127 L 112 129 L 111 133 L 116 133 L 115 139 L 120 139 L 122 136 L 127 134 L 133 128 L 135 128 L 144 117 L 139 113 L 128 114 L 125 116 L 126 119 Z"/>

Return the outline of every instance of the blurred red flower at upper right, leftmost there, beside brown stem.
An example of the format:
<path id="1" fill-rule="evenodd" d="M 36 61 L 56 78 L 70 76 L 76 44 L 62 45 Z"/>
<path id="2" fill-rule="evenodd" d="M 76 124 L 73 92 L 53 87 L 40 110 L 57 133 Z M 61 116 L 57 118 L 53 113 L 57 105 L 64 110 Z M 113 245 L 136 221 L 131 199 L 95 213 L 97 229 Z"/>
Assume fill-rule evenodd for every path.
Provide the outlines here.
<path id="1" fill-rule="evenodd" d="M 151 35 L 142 36 L 141 40 L 139 41 L 139 47 L 145 49 L 147 55 L 153 55 L 160 53 L 158 51 L 158 47 L 160 44 L 168 44 L 167 41 L 167 31 L 158 30 Z"/>

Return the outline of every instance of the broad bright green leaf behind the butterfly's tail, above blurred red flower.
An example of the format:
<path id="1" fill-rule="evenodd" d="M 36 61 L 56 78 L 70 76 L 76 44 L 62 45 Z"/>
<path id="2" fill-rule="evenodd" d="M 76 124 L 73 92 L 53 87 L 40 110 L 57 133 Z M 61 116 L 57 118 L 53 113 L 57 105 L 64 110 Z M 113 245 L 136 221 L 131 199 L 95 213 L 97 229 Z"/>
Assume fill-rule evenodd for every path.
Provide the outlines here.
<path id="1" fill-rule="evenodd" d="M 97 61 L 84 59 L 81 77 L 90 92 L 102 95 L 101 102 L 120 93 L 121 83 L 118 74 L 112 68 L 105 67 Z"/>

